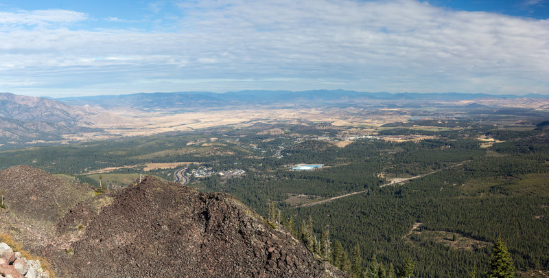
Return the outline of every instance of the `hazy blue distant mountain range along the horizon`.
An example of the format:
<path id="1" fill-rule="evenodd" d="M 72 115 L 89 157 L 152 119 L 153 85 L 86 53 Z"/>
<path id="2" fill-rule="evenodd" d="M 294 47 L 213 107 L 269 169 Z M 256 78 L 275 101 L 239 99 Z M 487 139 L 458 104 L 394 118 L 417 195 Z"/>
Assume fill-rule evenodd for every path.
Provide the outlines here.
<path id="1" fill-rule="evenodd" d="M 113 108 L 134 108 L 139 110 L 189 110 L 194 108 L 215 108 L 250 105 L 308 105 L 339 106 L 356 102 L 392 101 L 441 102 L 477 100 L 487 98 L 512 99 L 518 97 L 549 98 L 549 95 L 487 95 L 483 93 L 367 93 L 344 90 L 314 91 L 235 91 L 227 93 L 174 92 L 135 93 L 130 95 L 98 95 L 93 97 L 64 97 L 60 102 L 71 105 L 89 105 L 106 110 Z"/>

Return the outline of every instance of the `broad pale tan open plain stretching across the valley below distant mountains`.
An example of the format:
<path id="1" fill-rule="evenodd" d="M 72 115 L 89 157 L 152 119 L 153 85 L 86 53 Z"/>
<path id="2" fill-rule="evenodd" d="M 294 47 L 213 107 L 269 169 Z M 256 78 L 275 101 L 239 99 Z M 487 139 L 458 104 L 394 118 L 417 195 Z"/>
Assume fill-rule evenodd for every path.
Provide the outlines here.
<path id="1" fill-rule="evenodd" d="M 369 113 L 362 114 L 360 111 L 353 111 L 353 114 L 350 115 L 349 111 L 342 111 L 340 108 L 227 109 L 168 115 L 166 113 L 146 113 L 143 111 L 109 111 L 113 115 L 113 120 L 95 121 L 93 125 L 94 128 L 103 128 L 105 132 L 65 135 L 64 138 L 66 141 L 99 140 L 119 136 L 147 136 L 161 132 L 200 130 L 214 126 L 235 126 L 238 128 L 255 123 L 299 124 L 301 121 L 323 122 L 333 126 L 373 127 L 408 119 L 408 116 L 397 115 L 396 111 L 395 109 L 386 109 L 375 116 Z M 272 129 L 265 132 L 283 134 L 285 131 Z M 196 143 L 204 142 L 198 141 Z M 191 144 L 189 143 L 189 145 Z"/>

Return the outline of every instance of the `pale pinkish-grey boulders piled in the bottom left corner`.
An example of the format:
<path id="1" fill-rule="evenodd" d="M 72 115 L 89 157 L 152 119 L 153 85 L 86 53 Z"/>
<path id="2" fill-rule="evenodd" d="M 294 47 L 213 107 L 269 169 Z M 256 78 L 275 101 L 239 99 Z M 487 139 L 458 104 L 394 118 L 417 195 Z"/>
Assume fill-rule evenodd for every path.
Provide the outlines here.
<path id="1" fill-rule="evenodd" d="M 47 278 L 38 260 L 27 260 L 21 253 L 14 252 L 8 244 L 0 243 L 0 275 L 12 278 Z"/>

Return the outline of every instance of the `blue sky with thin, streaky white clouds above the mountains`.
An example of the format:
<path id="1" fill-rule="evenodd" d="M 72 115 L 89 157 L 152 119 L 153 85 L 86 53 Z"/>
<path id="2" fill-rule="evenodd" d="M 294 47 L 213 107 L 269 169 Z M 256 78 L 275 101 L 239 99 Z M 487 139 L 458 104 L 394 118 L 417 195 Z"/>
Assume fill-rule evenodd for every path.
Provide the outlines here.
<path id="1" fill-rule="evenodd" d="M 549 0 L 0 0 L 0 92 L 549 94 Z"/>

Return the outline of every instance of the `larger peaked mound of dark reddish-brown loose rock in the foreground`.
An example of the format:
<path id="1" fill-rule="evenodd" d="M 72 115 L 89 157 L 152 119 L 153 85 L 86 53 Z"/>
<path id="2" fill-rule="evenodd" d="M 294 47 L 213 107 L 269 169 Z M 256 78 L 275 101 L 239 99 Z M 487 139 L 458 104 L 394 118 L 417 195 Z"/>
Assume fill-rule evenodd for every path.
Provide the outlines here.
<path id="1" fill-rule="evenodd" d="M 73 209 L 59 227 L 89 217 Z M 67 277 L 338 277 L 291 235 L 228 194 L 147 177 L 124 189 L 73 242 Z M 73 224 L 74 225 L 74 224 Z M 340 274 L 339 274 L 340 275 Z"/>

